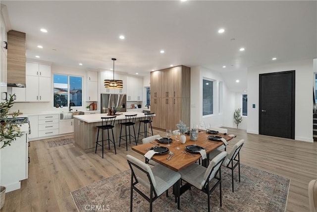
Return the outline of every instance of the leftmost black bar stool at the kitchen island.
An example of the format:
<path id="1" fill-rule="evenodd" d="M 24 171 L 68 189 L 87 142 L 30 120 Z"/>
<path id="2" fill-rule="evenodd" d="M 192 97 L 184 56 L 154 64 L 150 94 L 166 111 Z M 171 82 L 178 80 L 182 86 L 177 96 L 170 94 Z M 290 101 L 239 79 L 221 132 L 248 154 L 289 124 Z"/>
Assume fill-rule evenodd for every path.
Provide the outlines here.
<path id="1" fill-rule="evenodd" d="M 97 146 L 100 145 L 103 147 L 103 158 L 104 158 L 104 130 L 107 130 L 108 133 L 108 137 L 106 139 L 106 141 L 108 141 L 108 147 L 110 149 L 110 141 L 113 143 L 114 146 L 114 153 L 116 154 L 116 150 L 115 150 L 115 142 L 114 142 L 114 136 L 113 136 L 113 128 L 114 128 L 114 121 L 115 121 L 115 116 L 111 116 L 111 117 L 101 117 L 102 120 L 102 126 L 97 126 L 98 128 L 98 133 L 97 133 L 97 141 L 96 141 L 96 150 L 95 150 L 95 154 L 97 153 Z M 99 139 L 99 130 L 102 130 L 102 144 L 100 144 L 98 141 Z M 112 133 L 112 139 L 109 139 L 109 130 L 111 129 L 111 133 Z"/>

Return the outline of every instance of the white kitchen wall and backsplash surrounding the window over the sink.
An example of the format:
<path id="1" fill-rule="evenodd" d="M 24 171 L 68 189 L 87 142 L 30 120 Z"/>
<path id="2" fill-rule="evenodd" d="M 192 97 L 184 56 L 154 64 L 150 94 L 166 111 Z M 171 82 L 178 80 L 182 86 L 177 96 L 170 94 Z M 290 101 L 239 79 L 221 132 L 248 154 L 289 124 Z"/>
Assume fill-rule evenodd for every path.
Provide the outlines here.
<path id="1" fill-rule="evenodd" d="M 83 99 L 83 106 L 82 107 L 72 107 L 73 111 L 85 111 L 86 106 L 89 105 L 91 102 L 86 102 L 86 83 L 87 83 L 87 73 L 84 69 L 75 69 L 70 67 L 63 67 L 63 66 L 51 66 L 51 72 L 52 72 L 52 96 L 50 102 L 15 102 L 13 107 L 11 108 L 11 111 L 17 111 L 20 110 L 22 113 L 38 113 L 38 112 L 50 112 L 50 111 L 56 111 L 56 112 L 62 112 L 62 111 L 68 111 L 67 107 L 63 108 L 56 108 L 53 106 L 53 74 L 54 73 L 60 73 L 60 74 L 69 74 L 74 76 L 82 76 L 83 77 L 83 90 L 82 90 L 82 99 Z M 27 86 L 27 85 L 26 85 Z M 100 98 L 100 97 L 98 97 Z M 97 104 L 97 110 L 99 110 L 100 106 Z"/>

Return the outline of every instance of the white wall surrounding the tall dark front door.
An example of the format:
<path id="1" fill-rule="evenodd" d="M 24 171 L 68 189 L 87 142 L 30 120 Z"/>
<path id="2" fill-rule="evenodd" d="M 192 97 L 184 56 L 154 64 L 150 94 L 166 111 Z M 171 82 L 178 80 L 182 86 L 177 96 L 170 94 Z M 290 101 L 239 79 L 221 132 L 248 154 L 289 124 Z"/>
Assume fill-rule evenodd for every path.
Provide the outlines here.
<path id="1" fill-rule="evenodd" d="M 313 59 L 248 69 L 248 133 L 259 134 L 259 74 L 291 70 L 295 70 L 295 140 L 313 142 Z"/>

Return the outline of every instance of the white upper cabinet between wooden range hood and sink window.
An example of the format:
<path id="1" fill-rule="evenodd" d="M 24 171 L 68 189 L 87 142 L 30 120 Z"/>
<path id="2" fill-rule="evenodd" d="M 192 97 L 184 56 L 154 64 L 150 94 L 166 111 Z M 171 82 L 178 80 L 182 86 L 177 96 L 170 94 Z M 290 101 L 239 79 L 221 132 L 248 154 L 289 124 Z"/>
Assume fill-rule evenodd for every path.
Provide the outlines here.
<path id="1" fill-rule="evenodd" d="M 51 101 L 51 85 L 51 66 L 26 63 L 26 101 Z"/>

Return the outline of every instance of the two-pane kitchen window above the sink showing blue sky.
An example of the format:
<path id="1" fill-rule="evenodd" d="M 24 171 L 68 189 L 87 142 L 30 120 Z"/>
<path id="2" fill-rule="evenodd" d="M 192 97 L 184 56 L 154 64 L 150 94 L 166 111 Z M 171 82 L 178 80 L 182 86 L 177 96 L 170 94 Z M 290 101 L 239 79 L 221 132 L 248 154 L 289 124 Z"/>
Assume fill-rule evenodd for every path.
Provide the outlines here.
<path id="1" fill-rule="evenodd" d="M 54 74 L 54 107 L 56 105 L 68 107 L 82 106 L 82 81 L 81 76 L 68 76 Z"/>

